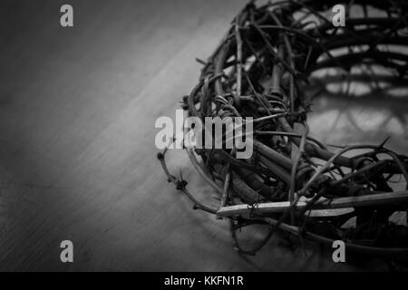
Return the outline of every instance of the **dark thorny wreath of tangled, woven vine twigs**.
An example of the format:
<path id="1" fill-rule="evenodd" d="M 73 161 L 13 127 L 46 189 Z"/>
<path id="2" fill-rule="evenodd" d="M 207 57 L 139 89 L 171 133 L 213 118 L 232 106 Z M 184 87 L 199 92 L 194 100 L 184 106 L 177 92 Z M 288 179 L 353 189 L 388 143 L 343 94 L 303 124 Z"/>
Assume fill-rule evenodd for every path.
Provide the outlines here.
<path id="1" fill-rule="evenodd" d="M 208 61 L 200 61 L 199 83 L 183 98 L 189 116 L 254 120 L 254 154 L 248 160 L 238 160 L 234 149 L 186 149 L 218 192 L 219 208 L 199 202 L 186 180 L 170 174 L 166 150 L 158 155 L 169 181 L 195 208 L 229 218 L 240 253 L 255 254 L 279 230 L 330 245 L 343 240 L 347 249 L 373 256 L 408 254 L 408 228 L 390 221 L 396 212 L 406 215 L 408 157 L 387 149 L 386 140 L 326 146 L 309 135 L 306 123 L 307 88 L 313 82 L 319 92 L 326 90 L 321 82 L 326 74 L 316 72 L 335 70 L 335 82 L 345 85 L 353 78 L 381 77 L 383 91 L 396 81 L 407 85 L 408 3 L 351 0 L 345 27 L 327 18 L 336 4 L 252 1 Z M 361 13 L 355 16 L 356 10 Z M 330 212 L 334 208 L 347 210 Z M 350 220 L 352 227 L 345 227 Z M 244 248 L 237 231 L 254 224 L 269 232 L 256 247 Z"/>

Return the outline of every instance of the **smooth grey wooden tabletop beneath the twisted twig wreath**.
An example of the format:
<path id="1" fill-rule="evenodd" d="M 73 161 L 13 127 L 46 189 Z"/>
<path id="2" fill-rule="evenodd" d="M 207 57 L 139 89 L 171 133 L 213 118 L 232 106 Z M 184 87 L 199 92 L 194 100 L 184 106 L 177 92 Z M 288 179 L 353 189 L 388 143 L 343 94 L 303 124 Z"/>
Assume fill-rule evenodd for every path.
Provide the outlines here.
<path id="1" fill-rule="evenodd" d="M 245 3 L 70 1 L 74 27 L 63 28 L 63 1 L 2 1 L 1 270 L 374 268 L 353 256 L 335 264 L 317 246 L 292 251 L 280 237 L 257 256 L 238 256 L 228 222 L 192 210 L 166 181 L 154 121 L 174 116 L 198 80 L 195 57 L 207 58 Z M 371 120 L 364 104 L 351 105 L 355 118 Z M 340 143 L 355 136 L 336 125 L 347 117 L 339 108 L 353 114 L 347 106 L 318 102 L 315 136 Z M 384 126 L 403 148 L 406 104 L 394 109 Z M 377 140 L 378 124 L 364 124 L 355 130 Z M 212 194 L 183 153 L 170 152 L 170 166 L 199 197 Z M 73 241 L 72 264 L 60 261 L 65 239 Z"/>

